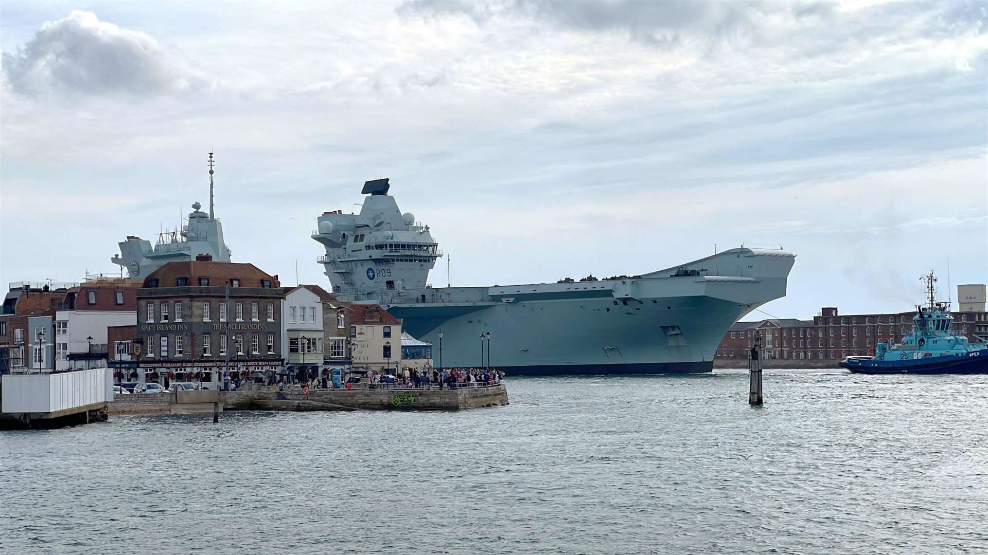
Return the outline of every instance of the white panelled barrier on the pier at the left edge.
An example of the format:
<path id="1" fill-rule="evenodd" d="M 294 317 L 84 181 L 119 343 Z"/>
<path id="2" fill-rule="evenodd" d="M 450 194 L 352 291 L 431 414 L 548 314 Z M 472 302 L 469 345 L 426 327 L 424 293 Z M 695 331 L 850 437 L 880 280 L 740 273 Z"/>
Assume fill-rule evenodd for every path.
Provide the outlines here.
<path id="1" fill-rule="evenodd" d="M 53 413 L 113 399 L 113 370 L 94 368 L 54 374 L 6 374 L 0 405 L 4 413 Z"/>

